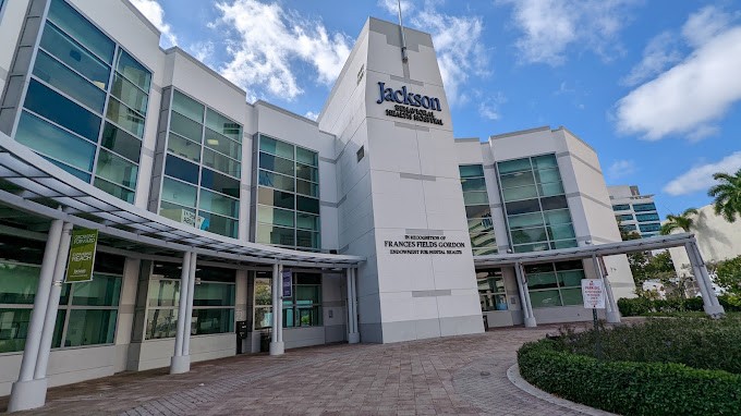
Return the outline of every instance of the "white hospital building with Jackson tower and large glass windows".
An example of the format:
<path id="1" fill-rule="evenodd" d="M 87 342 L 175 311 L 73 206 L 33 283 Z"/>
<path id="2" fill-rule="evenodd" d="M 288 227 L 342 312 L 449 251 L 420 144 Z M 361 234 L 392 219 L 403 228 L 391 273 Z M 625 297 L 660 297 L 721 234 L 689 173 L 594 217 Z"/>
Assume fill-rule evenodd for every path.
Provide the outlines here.
<path id="1" fill-rule="evenodd" d="M 453 138 L 428 34 L 369 19 L 315 122 L 160 49 L 127 0 L 0 4 L 0 395 L 268 343 L 591 319 L 585 277 L 633 293 L 624 255 L 477 266 L 620 234 L 566 129 Z M 73 225 L 101 235 L 94 279 L 54 292 Z"/>

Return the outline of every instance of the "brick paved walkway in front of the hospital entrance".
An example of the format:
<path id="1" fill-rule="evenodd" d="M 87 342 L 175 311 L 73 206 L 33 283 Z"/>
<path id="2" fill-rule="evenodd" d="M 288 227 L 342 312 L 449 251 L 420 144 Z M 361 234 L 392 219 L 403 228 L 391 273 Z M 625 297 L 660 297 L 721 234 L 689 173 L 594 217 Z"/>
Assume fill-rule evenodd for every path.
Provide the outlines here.
<path id="1" fill-rule="evenodd" d="M 242 355 L 196 363 L 177 376 L 122 374 L 50 389 L 46 407 L 22 414 L 576 415 L 507 379 L 517 348 L 547 332 L 557 327 Z"/>

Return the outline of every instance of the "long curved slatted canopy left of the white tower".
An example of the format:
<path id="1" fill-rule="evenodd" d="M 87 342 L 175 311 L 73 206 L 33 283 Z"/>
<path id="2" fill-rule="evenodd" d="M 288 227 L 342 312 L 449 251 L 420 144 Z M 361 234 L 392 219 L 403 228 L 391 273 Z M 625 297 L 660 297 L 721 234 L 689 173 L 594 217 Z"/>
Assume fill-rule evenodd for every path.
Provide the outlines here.
<path id="1" fill-rule="evenodd" d="M 0 133 L 0 219 L 2 212 L 28 219 L 60 219 L 98 230 L 101 244 L 149 255 L 194 252 L 229 262 L 353 268 L 359 256 L 300 252 L 250 243 L 195 229 L 135 207 L 65 172 Z M 5 207 L 3 208 L 2 205 Z"/>

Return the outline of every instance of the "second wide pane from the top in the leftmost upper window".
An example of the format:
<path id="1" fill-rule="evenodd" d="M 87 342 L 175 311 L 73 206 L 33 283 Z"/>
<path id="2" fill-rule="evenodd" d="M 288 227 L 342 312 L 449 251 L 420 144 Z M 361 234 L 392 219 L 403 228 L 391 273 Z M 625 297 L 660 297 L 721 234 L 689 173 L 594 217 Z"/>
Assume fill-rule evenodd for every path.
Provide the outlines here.
<path id="1" fill-rule="evenodd" d="M 97 87 L 108 88 L 110 68 L 53 25 L 47 24 L 44 28 L 41 48 L 83 74 Z"/>

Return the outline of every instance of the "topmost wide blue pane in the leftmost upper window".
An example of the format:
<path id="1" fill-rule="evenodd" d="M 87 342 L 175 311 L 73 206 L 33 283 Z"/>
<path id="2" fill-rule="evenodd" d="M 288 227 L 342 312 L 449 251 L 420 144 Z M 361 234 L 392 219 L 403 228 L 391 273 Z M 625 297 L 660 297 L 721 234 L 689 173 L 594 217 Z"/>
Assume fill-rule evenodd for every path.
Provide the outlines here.
<path id="1" fill-rule="evenodd" d="M 113 60 L 116 50 L 113 41 L 66 2 L 53 0 L 49 8 L 49 20 L 106 62 L 110 63 Z"/>

